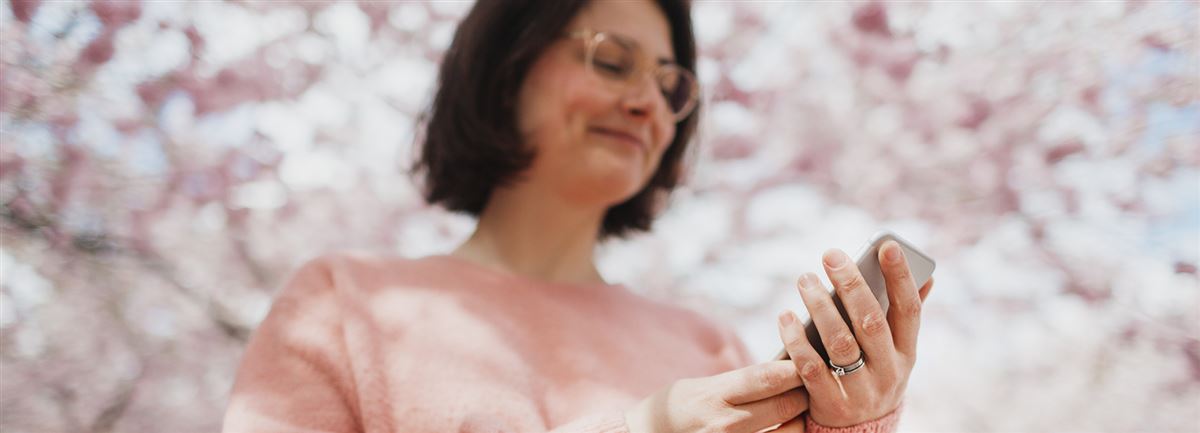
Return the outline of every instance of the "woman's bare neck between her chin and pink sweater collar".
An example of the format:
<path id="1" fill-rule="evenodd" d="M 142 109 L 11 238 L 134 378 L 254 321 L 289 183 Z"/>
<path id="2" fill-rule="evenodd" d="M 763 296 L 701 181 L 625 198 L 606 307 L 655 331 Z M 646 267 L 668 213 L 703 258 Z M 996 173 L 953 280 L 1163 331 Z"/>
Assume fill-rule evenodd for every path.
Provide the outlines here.
<path id="1" fill-rule="evenodd" d="M 450 255 L 556 283 L 605 283 L 595 267 L 605 208 L 530 188 L 496 188 L 475 231 Z"/>

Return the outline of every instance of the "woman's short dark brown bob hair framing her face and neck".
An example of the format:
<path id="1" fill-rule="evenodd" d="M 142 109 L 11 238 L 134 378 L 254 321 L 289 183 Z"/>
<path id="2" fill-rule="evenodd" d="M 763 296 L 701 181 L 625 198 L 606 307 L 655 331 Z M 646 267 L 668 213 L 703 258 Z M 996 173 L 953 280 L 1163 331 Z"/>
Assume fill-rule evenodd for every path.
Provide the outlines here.
<path id="1" fill-rule="evenodd" d="M 438 74 L 437 94 L 419 130 L 424 140 L 412 172 L 425 200 L 479 217 L 497 186 L 511 185 L 535 152 L 516 128 L 517 92 L 539 55 L 588 0 L 479 1 L 458 24 Z M 671 25 L 676 61 L 696 70 L 696 40 L 688 0 L 659 0 Z M 680 181 L 683 156 L 698 122 L 698 107 L 676 124 L 676 136 L 642 191 L 613 205 L 598 237 L 650 229 L 660 200 Z"/>

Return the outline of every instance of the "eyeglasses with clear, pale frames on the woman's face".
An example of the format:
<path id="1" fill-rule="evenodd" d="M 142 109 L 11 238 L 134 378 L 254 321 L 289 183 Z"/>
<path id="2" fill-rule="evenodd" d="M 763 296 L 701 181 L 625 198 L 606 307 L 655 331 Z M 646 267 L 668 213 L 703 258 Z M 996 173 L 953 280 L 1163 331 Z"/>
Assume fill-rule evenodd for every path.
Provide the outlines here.
<path id="1" fill-rule="evenodd" d="M 670 62 L 646 65 L 646 56 L 642 55 L 637 42 L 618 35 L 578 30 L 565 36 L 584 41 L 583 62 L 588 73 L 604 78 L 620 90 L 636 85 L 644 71 L 650 70 L 674 121 L 688 118 L 696 108 L 696 101 L 700 100 L 700 83 L 696 82 L 696 76 L 683 66 Z"/>

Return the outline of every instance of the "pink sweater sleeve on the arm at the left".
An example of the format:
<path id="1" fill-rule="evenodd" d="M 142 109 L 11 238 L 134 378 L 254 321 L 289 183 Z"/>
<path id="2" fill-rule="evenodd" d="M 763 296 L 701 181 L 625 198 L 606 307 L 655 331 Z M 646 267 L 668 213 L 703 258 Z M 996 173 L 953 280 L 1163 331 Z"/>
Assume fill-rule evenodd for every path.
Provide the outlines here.
<path id="1" fill-rule="evenodd" d="M 329 266 L 312 260 L 251 337 L 223 432 L 359 432 L 352 384 Z"/>

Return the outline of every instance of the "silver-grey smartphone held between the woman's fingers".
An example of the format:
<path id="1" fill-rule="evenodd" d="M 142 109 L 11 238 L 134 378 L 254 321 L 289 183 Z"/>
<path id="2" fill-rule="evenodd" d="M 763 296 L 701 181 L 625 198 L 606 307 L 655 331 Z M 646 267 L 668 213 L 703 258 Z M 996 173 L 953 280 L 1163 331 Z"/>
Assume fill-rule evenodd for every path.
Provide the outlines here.
<path id="1" fill-rule="evenodd" d="M 904 252 L 904 257 L 908 259 L 908 271 L 912 272 L 912 279 L 920 288 L 929 282 L 929 277 L 934 275 L 934 259 L 929 258 L 928 254 L 917 249 L 912 243 L 901 239 L 895 233 L 892 231 L 878 231 L 858 251 L 854 263 L 858 264 L 858 271 L 863 272 L 863 279 L 866 281 L 866 285 L 871 288 L 871 293 L 875 294 L 875 299 L 880 301 L 880 307 L 883 312 L 888 312 L 888 290 L 883 282 L 883 271 L 880 269 L 880 247 L 883 242 L 889 240 L 896 241 L 900 245 L 900 251 Z M 833 303 L 838 307 L 838 312 L 841 313 L 842 320 L 846 320 L 846 326 L 851 326 L 850 314 L 846 313 L 846 307 L 841 305 L 841 299 L 838 297 L 838 291 L 833 288 L 829 289 L 829 294 L 833 296 Z M 850 329 L 854 329 L 851 326 Z M 809 337 L 809 343 L 812 348 L 817 350 L 826 362 L 829 362 L 829 354 L 826 351 L 824 343 L 821 342 L 821 333 L 817 332 L 816 324 L 812 323 L 812 318 L 804 320 L 804 333 Z M 775 360 L 787 360 L 791 356 L 787 354 L 787 348 L 784 348 L 775 355 Z"/>

